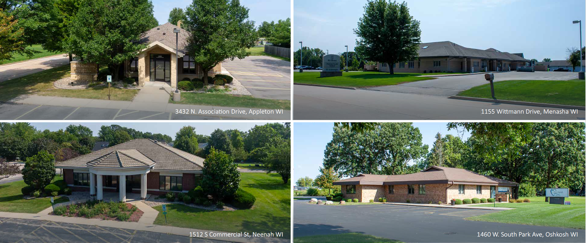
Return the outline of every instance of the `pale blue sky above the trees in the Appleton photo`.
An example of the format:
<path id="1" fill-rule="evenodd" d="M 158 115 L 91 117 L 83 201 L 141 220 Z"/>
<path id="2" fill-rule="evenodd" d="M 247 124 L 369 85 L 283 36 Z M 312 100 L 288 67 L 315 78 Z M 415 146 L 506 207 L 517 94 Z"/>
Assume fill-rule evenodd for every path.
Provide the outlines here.
<path id="1" fill-rule="evenodd" d="M 192 2 L 191 0 L 152 0 L 155 18 L 159 20 L 159 25 L 162 25 L 167 22 L 169 12 L 173 8 L 185 10 Z M 279 19 L 287 19 L 291 16 L 291 1 L 289 0 L 240 0 L 240 5 L 250 9 L 248 19 L 253 20 L 256 26 L 263 21 L 277 22 Z"/>

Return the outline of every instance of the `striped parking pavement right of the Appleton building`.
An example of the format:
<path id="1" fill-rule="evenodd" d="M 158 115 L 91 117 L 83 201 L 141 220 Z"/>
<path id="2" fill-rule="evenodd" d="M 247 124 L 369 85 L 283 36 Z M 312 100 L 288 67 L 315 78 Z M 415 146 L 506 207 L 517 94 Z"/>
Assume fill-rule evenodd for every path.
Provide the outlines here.
<path id="1" fill-rule="evenodd" d="M 291 100 L 291 63 L 265 55 L 222 63 L 255 98 Z"/>

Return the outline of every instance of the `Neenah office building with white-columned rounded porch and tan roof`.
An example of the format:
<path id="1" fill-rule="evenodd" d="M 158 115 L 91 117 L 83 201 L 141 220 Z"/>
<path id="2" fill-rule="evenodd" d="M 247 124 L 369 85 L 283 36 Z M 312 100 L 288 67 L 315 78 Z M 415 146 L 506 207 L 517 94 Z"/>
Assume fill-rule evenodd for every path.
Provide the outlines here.
<path id="1" fill-rule="evenodd" d="M 63 179 L 74 191 L 88 191 L 103 200 L 103 192 L 163 195 L 188 192 L 199 184 L 203 158 L 173 148 L 166 143 L 138 138 L 103 148 L 90 154 L 59 162 Z"/>

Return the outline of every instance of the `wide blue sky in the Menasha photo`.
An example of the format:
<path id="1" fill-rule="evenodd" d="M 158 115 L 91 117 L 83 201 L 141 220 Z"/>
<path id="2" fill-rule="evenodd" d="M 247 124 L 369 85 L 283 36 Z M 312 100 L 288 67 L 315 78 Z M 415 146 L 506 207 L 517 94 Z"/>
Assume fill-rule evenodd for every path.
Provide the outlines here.
<path id="1" fill-rule="evenodd" d="M 397 1 L 402 2 L 402 1 Z M 524 53 L 528 59 L 565 60 L 567 47 L 580 46 L 578 24 L 582 20 L 582 46 L 586 41 L 584 0 L 407 0 L 410 14 L 420 20 L 421 41 L 452 41 L 478 49 L 496 48 Z M 330 54 L 356 45 L 352 29 L 362 17 L 366 1 L 295 0 L 294 48 L 329 49 Z"/>

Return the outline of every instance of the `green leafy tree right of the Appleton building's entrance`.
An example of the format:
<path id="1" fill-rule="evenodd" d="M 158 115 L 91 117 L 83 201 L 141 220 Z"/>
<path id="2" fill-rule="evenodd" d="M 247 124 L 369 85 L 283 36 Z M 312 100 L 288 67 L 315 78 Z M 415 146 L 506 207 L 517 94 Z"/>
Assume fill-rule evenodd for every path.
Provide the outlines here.
<path id="1" fill-rule="evenodd" d="M 191 33 L 185 49 L 202 68 L 205 85 L 207 72 L 217 64 L 250 55 L 246 50 L 255 45 L 257 34 L 240 1 L 193 0 L 185 13 Z"/>

